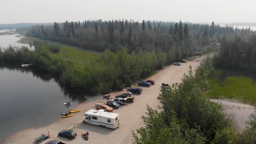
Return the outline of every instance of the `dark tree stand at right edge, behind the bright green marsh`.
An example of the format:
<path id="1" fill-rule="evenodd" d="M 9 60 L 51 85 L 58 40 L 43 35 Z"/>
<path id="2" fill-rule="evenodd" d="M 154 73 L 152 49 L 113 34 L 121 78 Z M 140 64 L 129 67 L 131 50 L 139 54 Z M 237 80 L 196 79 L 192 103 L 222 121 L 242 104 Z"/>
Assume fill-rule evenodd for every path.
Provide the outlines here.
<path id="1" fill-rule="evenodd" d="M 243 33 L 225 36 L 214 59 L 216 67 L 256 72 L 256 32 L 249 29 Z"/>

